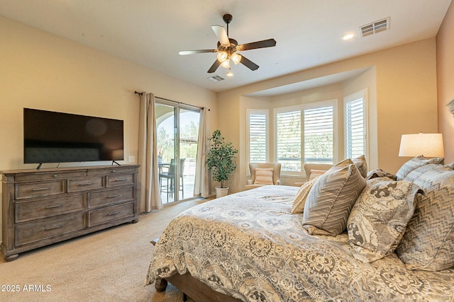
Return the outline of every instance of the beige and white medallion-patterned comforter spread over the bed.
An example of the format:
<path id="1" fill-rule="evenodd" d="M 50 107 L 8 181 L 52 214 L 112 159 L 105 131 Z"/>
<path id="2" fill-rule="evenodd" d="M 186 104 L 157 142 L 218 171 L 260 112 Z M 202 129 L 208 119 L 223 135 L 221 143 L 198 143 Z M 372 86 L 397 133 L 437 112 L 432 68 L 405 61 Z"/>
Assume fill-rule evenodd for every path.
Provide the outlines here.
<path id="1" fill-rule="evenodd" d="M 298 187 L 270 185 L 184 211 L 153 250 L 147 284 L 189 272 L 243 301 L 454 301 L 454 269 L 355 260 L 346 233 L 311 236 L 290 214 Z"/>

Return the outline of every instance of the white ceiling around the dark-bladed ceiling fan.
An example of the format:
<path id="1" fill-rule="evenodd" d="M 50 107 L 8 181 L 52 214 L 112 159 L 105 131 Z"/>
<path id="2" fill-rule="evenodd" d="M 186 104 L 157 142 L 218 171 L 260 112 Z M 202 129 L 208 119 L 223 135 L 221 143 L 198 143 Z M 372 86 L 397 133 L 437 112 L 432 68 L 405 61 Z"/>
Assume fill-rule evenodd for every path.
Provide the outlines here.
<path id="1" fill-rule="evenodd" d="M 321 64 L 434 37 L 451 0 L 0 0 L 0 15 L 67 37 L 211 91 L 291 74 Z M 211 25 L 231 13 L 229 36 L 244 44 L 275 38 L 276 47 L 242 54 L 260 66 L 234 65 L 233 78 L 215 53 Z M 390 28 L 360 37 L 359 27 L 390 18 Z M 352 40 L 342 40 L 353 33 Z M 225 78 L 214 82 L 212 75 Z M 345 76 L 345 75 L 344 75 Z M 330 79 L 333 81 L 333 79 Z M 288 88 L 288 87 L 287 87 Z M 288 91 L 281 89 L 280 92 Z M 270 91 L 270 93 L 272 93 Z M 276 91 L 274 92 L 276 93 Z M 262 93 L 266 95 L 266 93 Z"/>

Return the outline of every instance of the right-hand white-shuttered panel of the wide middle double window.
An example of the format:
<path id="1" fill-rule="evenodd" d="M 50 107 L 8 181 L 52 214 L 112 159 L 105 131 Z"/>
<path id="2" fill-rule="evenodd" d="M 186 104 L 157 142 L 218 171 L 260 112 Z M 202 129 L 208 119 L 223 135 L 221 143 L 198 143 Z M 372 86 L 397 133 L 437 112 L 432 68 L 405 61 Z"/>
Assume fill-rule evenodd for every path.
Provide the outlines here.
<path id="1" fill-rule="evenodd" d="M 332 105 L 304 110 L 304 163 L 333 163 Z"/>

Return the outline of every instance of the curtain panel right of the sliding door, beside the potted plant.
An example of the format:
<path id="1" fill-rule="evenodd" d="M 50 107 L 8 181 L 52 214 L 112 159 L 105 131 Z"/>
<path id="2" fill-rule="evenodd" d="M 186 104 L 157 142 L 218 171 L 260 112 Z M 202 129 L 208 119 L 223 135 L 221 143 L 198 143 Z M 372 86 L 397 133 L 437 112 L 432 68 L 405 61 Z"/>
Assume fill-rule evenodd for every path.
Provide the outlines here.
<path id="1" fill-rule="evenodd" d="M 206 108 L 200 110 L 199 141 L 197 142 L 196 179 L 194 182 L 194 196 L 210 196 L 210 173 L 206 169 L 206 153 L 209 148 L 209 129 L 206 125 Z"/>

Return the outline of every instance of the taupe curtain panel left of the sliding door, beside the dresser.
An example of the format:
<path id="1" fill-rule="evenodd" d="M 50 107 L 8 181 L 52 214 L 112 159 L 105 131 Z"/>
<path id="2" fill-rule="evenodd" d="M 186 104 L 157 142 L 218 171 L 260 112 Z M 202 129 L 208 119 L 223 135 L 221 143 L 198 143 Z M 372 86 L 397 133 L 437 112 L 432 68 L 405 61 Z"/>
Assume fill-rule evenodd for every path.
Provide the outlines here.
<path id="1" fill-rule="evenodd" d="M 138 187 L 140 212 L 161 209 L 159 170 L 157 169 L 155 96 L 153 93 L 140 95 Z"/>

